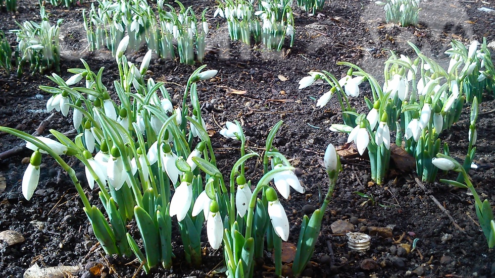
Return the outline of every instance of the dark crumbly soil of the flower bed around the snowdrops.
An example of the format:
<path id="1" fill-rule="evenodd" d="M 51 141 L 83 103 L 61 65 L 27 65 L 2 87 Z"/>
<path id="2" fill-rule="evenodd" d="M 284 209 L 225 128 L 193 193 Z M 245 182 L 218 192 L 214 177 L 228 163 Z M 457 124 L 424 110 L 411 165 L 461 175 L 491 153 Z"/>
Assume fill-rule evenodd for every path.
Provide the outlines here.
<path id="1" fill-rule="evenodd" d="M 0 13 L 3 31 L 17 28 L 15 22 L 39 21 L 39 8 L 31 1 L 19 1 L 17 13 Z M 213 19 L 214 1 L 185 1 L 194 5 L 195 11 L 209 7 L 211 34 L 207 43 L 211 49 L 205 64 L 219 70 L 217 78 L 199 85 L 202 113 L 212 129 L 218 132 L 225 121 L 238 120 L 248 137 L 248 148 L 263 147 L 269 129 L 284 120 L 275 146 L 293 166 L 304 185 L 306 194 L 292 193 L 292 199 L 282 201 L 291 229 L 289 242 L 296 243 L 304 213 L 310 214 L 318 207 L 317 186 L 327 186 L 327 177 L 321 160 L 328 143 L 342 145 L 346 135 L 330 132 L 332 123 L 341 123 L 337 103 L 325 109 L 317 109 L 315 98 L 328 90 L 325 85 L 313 85 L 298 90 L 298 81 L 311 70 L 326 70 L 340 77 L 346 69 L 336 66 L 337 61 L 359 65 L 379 79 L 383 62 L 389 49 L 411 54 L 407 41 L 414 42 L 428 56 L 448 63 L 443 51 L 450 48 L 450 40 L 465 43 L 473 39 L 495 40 L 495 14 L 481 12 L 478 8 L 495 9 L 492 1 L 429 1 L 422 2 L 420 26 L 417 28 L 385 25 L 384 13 L 368 0 L 332 0 L 318 15 L 308 16 L 299 9 L 296 22 L 296 39 L 292 48 L 281 52 L 267 51 L 262 46 L 246 46 L 231 42 L 222 19 Z M 55 8 L 47 6 L 51 20 L 64 19 L 61 42 L 61 75 L 68 78 L 67 69 L 81 67 L 79 58 L 89 63 L 93 70 L 105 67 L 105 84 L 118 77 L 111 55 L 106 51 L 88 52 L 86 35 L 82 28 L 83 7 Z M 219 28 L 217 29 L 216 26 Z M 15 36 L 7 35 L 15 45 Z M 495 49 L 490 49 L 495 53 Z M 143 51 L 128 54 L 131 62 L 142 57 Z M 187 77 L 200 65 L 184 66 L 176 61 L 153 61 L 150 70 L 153 78 L 168 82 L 169 93 L 179 99 Z M 281 81 L 279 75 L 287 78 Z M 0 76 L 0 125 L 33 133 L 38 125 L 50 116 L 45 103 L 48 96 L 38 86 L 51 84 L 41 75 L 24 74 Z M 246 91 L 243 95 L 231 94 L 225 88 Z M 366 88 L 364 88 L 366 90 Z M 176 96 L 174 96 L 176 95 Z M 335 100 L 335 98 L 333 99 Z M 358 112 L 364 112 L 362 97 L 353 99 Z M 442 134 L 450 146 L 451 154 L 464 157 L 468 147 L 469 105 L 466 113 L 450 133 Z M 481 166 L 470 171 L 473 183 L 482 199 L 495 204 L 495 101 L 485 95 L 479 107 L 477 122 L 478 141 L 475 160 Z M 71 129 L 71 118 L 56 114 L 48 129 L 61 132 Z M 219 134 L 212 137 L 218 152 L 217 161 L 226 175 L 232 161 L 239 156 L 240 145 L 226 140 Z M 22 144 L 21 140 L 0 134 L 0 152 Z M 26 241 L 13 246 L 0 244 L 0 276 L 22 277 L 24 271 L 38 263 L 42 267 L 81 265 L 77 276 L 92 277 L 89 269 L 100 267 L 99 276 L 131 277 L 139 263 L 133 258 L 105 256 L 92 234 L 82 210 L 78 194 L 68 177 L 52 159 L 43 158 L 38 190 L 31 201 L 21 194 L 21 179 L 26 169 L 24 150 L 15 156 L 0 160 L 0 175 L 7 180 L 7 189 L 0 194 L 0 231 L 14 230 L 24 235 Z M 22 162 L 21 162 L 22 161 Z M 69 161 L 79 170 L 78 162 Z M 383 186 L 374 185 L 370 179 L 369 161 L 365 158 L 342 159 L 343 172 L 323 221 L 312 264 L 304 272 L 310 277 L 493 277 L 495 276 L 495 251 L 489 250 L 479 230 L 473 198 L 466 190 L 440 183 L 424 184 L 415 181 L 415 173 L 393 168 Z M 82 171 L 81 171 L 82 170 Z M 256 172 L 257 173 L 257 172 Z M 441 174 L 439 175 L 442 176 Z M 455 178 L 450 177 L 450 178 Z M 256 179 L 256 178 L 254 178 Z M 353 193 L 363 192 L 374 196 L 372 201 Z M 91 203 L 98 204 L 97 192 L 87 189 Z M 433 199 L 438 200 L 435 204 Z M 385 205 L 382 207 L 378 204 Z M 447 211 L 442 211 L 439 206 Z M 453 221 L 459 228 L 456 228 Z M 351 252 L 344 235 L 332 234 L 330 225 L 336 220 L 349 221 L 355 231 L 369 233 L 374 228 L 390 227 L 392 237 L 373 236 L 371 250 Z M 131 223 L 132 225 L 132 223 Z M 206 234 L 206 233 L 204 233 Z M 178 238 L 178 237 L 176 237 Z M 415 250 L 407 252 L 408 245 L 419 239 Z M 183 263 L 181 242 L 174 242 L 172 270 L 157 269 L 155 273 L 138 277 L 204 277 L 222 263 L 222 251 L 213 251 L 206 240 L 202 269 L 191 269 Z M 406 247 L 406 248 L 405 248 Z M 370 260 L 372 259 L 372 260 Z M 259 276 L 273 275 L 270 255 L 265 256 L 264 266 L 258 268 Z"/>

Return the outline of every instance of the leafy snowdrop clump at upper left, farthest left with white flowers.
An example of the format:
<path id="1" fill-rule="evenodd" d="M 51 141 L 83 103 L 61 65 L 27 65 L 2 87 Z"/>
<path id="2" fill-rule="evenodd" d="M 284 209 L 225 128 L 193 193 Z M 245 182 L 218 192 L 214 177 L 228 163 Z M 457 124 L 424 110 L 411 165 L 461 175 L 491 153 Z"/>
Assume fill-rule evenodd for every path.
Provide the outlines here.
<path id="1" fill-rule="evenodd" d="M 45 14 L 44 7 L 40 8 L 41 23 L 26 21 L 20 29 L 11 30 L 17 34 L 17 50 L 19 51 L 18 74 L 22 73 L 22 68 L 29 65 L 32 73 L 43 73 L 47 70 L 55 69 L 60 71 L 60 46 L 59 33 L 62 20 L 51 25 Z"/>

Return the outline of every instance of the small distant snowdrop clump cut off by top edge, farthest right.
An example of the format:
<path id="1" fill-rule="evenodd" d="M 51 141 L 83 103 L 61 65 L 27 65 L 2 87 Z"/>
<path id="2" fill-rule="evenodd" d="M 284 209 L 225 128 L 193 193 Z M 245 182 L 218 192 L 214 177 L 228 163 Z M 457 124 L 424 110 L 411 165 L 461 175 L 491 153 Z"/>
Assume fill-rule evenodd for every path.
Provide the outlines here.
<path id="1" fill-rule="evenodd" d="M 387 23 L 400 23 L 403 27 L 418 25 L 419 0 L 385 0 L 375 3 L 384 6 Z"/>

